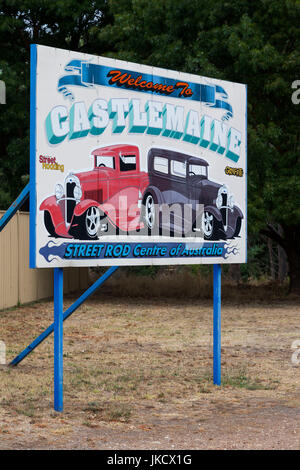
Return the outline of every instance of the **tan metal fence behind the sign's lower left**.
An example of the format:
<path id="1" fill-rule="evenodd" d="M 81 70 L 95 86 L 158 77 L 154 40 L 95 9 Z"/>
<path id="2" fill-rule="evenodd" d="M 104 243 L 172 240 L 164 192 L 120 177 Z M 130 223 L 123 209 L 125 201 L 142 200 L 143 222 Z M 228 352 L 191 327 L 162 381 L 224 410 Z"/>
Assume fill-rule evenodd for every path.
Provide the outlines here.
<path id="1" fill-rule="evenodd" d="M 88 268 L 64 269 L 65 293 L 88 285 Z M 29 214 L 17 212 L 0 233 L 0 310 L 52 296 L 53 269 L 29 269 Z"/>

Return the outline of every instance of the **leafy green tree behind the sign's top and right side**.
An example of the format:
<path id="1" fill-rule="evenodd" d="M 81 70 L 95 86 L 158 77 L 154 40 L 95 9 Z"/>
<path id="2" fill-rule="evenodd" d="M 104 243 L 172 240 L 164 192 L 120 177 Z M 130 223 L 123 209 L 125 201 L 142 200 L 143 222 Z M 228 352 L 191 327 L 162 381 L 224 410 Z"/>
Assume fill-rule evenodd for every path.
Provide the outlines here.
<path id="1" fill-rule="evenodd" d="M 286 251 L 300 294 L 298 0 L 111 0 L 116 58 L 248 85 L 248 230 Z M 109 49 L 110 47 L 110 49 Z M 260 252 L 260 250 L 258 250 Z"/>

